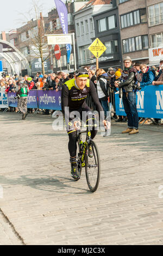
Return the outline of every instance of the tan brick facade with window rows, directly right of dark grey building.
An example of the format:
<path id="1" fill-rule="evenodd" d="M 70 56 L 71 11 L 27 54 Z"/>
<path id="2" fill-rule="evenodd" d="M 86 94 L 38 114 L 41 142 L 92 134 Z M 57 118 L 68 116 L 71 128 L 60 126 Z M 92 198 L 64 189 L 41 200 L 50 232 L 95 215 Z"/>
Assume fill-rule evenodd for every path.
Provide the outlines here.
<path id="1" fill-rule="evenodd" d="M 122 58 L 130 56 L 133 60 L 148 63 L 148 20 L 146 0 L 117 0 Z"/>

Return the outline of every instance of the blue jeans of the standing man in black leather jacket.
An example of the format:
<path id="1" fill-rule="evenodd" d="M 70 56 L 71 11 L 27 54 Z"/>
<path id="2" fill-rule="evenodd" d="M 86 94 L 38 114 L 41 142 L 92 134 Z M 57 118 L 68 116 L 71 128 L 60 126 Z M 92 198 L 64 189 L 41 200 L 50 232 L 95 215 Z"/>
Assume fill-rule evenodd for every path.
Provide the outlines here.
<path id="1" fill-rule="evenodd" d="M 136 92 L 129 92 L 128 97 L 123 92 L 122 101 L 124 111 L 127 114 L 129 129 L 138 129 L 139 117 L 136 109 Z"/>

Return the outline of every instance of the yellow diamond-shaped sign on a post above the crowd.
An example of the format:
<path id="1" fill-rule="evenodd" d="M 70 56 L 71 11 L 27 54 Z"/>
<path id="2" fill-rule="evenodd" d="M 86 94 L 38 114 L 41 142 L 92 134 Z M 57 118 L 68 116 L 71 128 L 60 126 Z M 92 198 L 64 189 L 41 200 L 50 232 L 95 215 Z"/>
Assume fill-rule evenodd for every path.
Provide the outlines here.
<path id="1" fill-rule="evenodd" d="M 98 38 L 96 38 L 95 41 L 93 41 L 90 45 L 89 50 L 91 53 L 93 53 L 93 55 L 95 55 L 96 58 L 99 58 L 101 54 L 103 54 L 103 52 L 106 50 L 106 47 Z"/>

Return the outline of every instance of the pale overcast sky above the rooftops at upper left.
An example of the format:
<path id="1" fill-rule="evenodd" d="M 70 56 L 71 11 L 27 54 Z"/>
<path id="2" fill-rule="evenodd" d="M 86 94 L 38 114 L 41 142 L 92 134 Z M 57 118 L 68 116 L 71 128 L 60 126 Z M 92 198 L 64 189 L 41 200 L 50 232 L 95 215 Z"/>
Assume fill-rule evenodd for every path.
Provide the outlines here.
<path id="1" fill-rule="evenodd" d="M 42 13 L 44 16 L 48 16 L 48 10 L 55 6 L 54 0 L 35 1 L 41 5 Z M 11 29 L 21 27 L 23 22 L 26 21 L 26 17 L 28 17 L 28 20 L 30 20 L 30 15 L 28 12 L 32 9 L 32 6 L 32 0 L 3 0 L 3 4 L 1 4 L 0 32 L 8 32 Z"/>

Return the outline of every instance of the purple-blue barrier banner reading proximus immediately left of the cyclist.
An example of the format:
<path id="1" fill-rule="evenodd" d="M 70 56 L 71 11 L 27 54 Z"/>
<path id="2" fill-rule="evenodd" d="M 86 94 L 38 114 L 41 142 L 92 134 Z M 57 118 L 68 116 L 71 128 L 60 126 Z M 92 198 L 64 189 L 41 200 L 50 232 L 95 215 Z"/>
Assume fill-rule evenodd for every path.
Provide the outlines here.
<path id="1" fill-rule="evenodd" d="M 61 91 L 38 90 L 38 105 L 40 109 L 61 110 Z"/>

